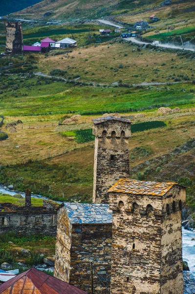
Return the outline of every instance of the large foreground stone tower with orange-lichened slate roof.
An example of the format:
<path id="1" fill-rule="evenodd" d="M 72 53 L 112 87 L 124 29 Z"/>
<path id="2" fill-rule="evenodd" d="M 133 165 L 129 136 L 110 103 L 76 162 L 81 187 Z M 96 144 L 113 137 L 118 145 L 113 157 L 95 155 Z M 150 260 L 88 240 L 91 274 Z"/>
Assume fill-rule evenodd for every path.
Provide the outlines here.
<path id="1" fill-rule="evenodd" d="M 185 188 L 120 179 L 108 192 L 113 210 L 111 294 L 183 294 Z"/>

